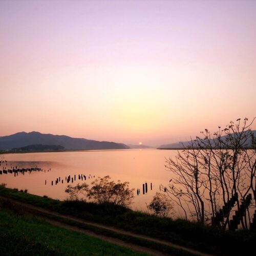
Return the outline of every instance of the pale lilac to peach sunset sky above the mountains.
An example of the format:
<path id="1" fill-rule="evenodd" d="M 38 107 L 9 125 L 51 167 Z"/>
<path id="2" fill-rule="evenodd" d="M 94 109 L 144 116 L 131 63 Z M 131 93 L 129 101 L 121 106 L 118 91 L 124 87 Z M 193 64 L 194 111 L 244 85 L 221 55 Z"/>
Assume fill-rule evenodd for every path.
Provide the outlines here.
<path id="1" fill-rule="evenodd" d="M 160 145 L 251 120 L 255 13 L 256 1 L 2 0 L 0 136 Z"/>

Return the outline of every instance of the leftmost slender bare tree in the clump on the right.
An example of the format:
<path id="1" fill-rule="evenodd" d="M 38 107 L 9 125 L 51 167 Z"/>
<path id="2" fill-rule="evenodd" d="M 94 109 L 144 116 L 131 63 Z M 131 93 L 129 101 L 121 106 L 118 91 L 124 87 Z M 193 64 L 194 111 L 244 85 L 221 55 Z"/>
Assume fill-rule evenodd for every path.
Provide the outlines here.
<path id="1" fill-rule="evenodd" d="M 203 200 L 204 189 L 203 170 L 199 161 L 200 151 L 196 149 L 194 141 L 191 140 L 189 149 L 179 151 L 176 158 L 166 160 L 166 168 L 173 173 L 172 180 L 166 190 L 169 195 L 173 195 L 178 200 L 178 205 L 185 211 L 185 205 L 190 211 L 190 215 L 199 222 L 205 220 L 205 203 Z"/>

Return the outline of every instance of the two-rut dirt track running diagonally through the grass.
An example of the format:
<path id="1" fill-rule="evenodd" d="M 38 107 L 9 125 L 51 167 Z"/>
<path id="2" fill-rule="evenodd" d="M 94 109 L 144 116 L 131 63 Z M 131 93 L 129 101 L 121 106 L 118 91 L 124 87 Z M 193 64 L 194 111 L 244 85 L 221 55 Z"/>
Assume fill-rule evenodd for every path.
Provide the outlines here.
<path id="1" fill-rule="evenodd" d="M 101 234 L 96 234 L 96 233 L 94 233 L 92 231 L 89 231 L 89 230 L 86 230 L 84 228 L 79 228 L 79 227 L 76 227 L 76 226 L 67 225 L 67 224 L 64 224 L 60 221 L 53 221 L 53 220 L 48 219 L 45 215 L 60 217 L 60 218 L 63 218 L 63 219 L 75 221 L 77 223 L 86 224 L 86 225 L 90 225 L 90 226 L 93 226 L 93 227 L 98 227 L 98 228 L 101 228 L 101 229 L 105 229 L 105 230 L 113 231 L 113 232 L 116 232 L 116 233 L 124 234 L 126 236 L 131 236 L 131 237 L 134 237 L 134 238 L 143 239 L 143 240 L 146 240 L 146 241 L 151 241 L 151 242 L 158 243 L 158 244 L 161 244 L 161 245 L 173 247 L 175 249 L 181 249 L 181 250 L 184 250 L 184 251 L 189 252 L 189 253 L 194 253 L 196 255 L 210 256 L 210 254 L 207 254 L 207 253 L 204 253 L 204 252 L 201 252 L 201 251 L 198 251 L 198 250 L 190 249 L 190 248 L 187 248 L 185 246 L 181 246 L 181 245 L 174 244 L 174 243 L 171 243 L 171 242 L 167 242 L 167 241 L 164 241 L 164 240 L 160 240 L 160 239 L 156 239 L 156 238 L 152 238 L 152 237 L 147 237 L 143 234 L 137 234 L 137 233 L 122 230 L 122 229 L 119 229 L 119 228 L 116 228 L 116 227 L 111 227 L 111 226 L 106 226 L 106 225 L 95 223 L 95 222 L 85 221 L 85 220 L 78 219 L 78 218 L 75 218 L 75 217 L 72 217 L 72 216 L 69 216 L 69 215 L 62 215 L 62 214 L 59 214 L 58 212 L 55 212 L 55 211 L 46 210 L 44 208 L 33 206 L 33 205 L 23 203 L 23 202 L 19 202 L 17 200 L 14 200 L 14 199 L 11 199 L 11 198 L 6 198 L 4 196 L 0 196 L 0 198 L 8 199 L 8 200 L 22 206 L 23 208 L 27 208 L 29 210 L 32 210 L 34 214 L 37 214 L 37 215 L 40 214 L 40 213 L 44 214 L 43 219 L 46 220 L 47 222 L 53 224 L 53 225 L 63 227 L 63 228 L 68 228 L 70 230 L 74 230 L 74 231 L 78 231 L 78 232 L 82 232 L 82 233 L 86 233 L 86 234 L 89 234 L 90 236 L 97 237 L 97 238 L 100 238 L 102 240 L 105 240 L 105 241 L 108 241 L 108 242 L 111 242 L 111 243 L 114 243 L 114 244 L 117 244 L 117 245 L 120 245 L 120 246 L 123 246 L 123 247 L 131 248 L 135 251 L 145 252 L 145 253 L 148 253 L 148 254 L 151 254 L 151 255 L 165 255 L 165 254 L 163 254 L 159 251 L 156 251 L 156 250 L 153 250 L 153 249 L 150 249 L 150 248 L 134 245 L 134 244 L 131 244 L 131 243 L 125 243 L 125 242 L 123 242 L 119 239 L 110 238 L 110 237 L 107 237 L 107 236 L 103 236 Z"/>

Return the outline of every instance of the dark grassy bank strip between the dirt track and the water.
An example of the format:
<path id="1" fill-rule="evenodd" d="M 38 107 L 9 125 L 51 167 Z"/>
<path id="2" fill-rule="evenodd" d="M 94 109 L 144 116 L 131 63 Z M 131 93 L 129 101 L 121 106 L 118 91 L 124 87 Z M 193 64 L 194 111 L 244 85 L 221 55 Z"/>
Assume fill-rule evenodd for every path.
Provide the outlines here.
<path id="1" fill-rule="evenodd" d="M 224 231 L 184 220 L 171 220 L 142 214 L 124 207 L 94 203 L 58 201 L 0 188 L 6 197 L 35 206 L 68 214 L 84 220 L 119 227 L 154 238 L 175 242 L 198 250 L 218 254 L 249 253 L 254 248 L 256 233 L 239 230 Z"/>

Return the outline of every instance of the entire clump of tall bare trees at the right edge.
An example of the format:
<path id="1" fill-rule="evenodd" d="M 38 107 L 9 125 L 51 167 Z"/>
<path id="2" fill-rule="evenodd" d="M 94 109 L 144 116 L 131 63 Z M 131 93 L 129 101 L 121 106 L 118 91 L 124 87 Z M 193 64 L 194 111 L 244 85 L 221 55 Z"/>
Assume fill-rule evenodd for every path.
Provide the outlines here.
<path id="1" fill-rule="evenodd" d="M 252 122 L 254 119 L 252 120 Z M 181 207 L 185 218 L 243 229 L 249 225 L 256 206 L 256 143 L 245 118 L 225 129 L 190 141 L 175 159 L 166 159 L 173 179 L 167 194 Z"/>

